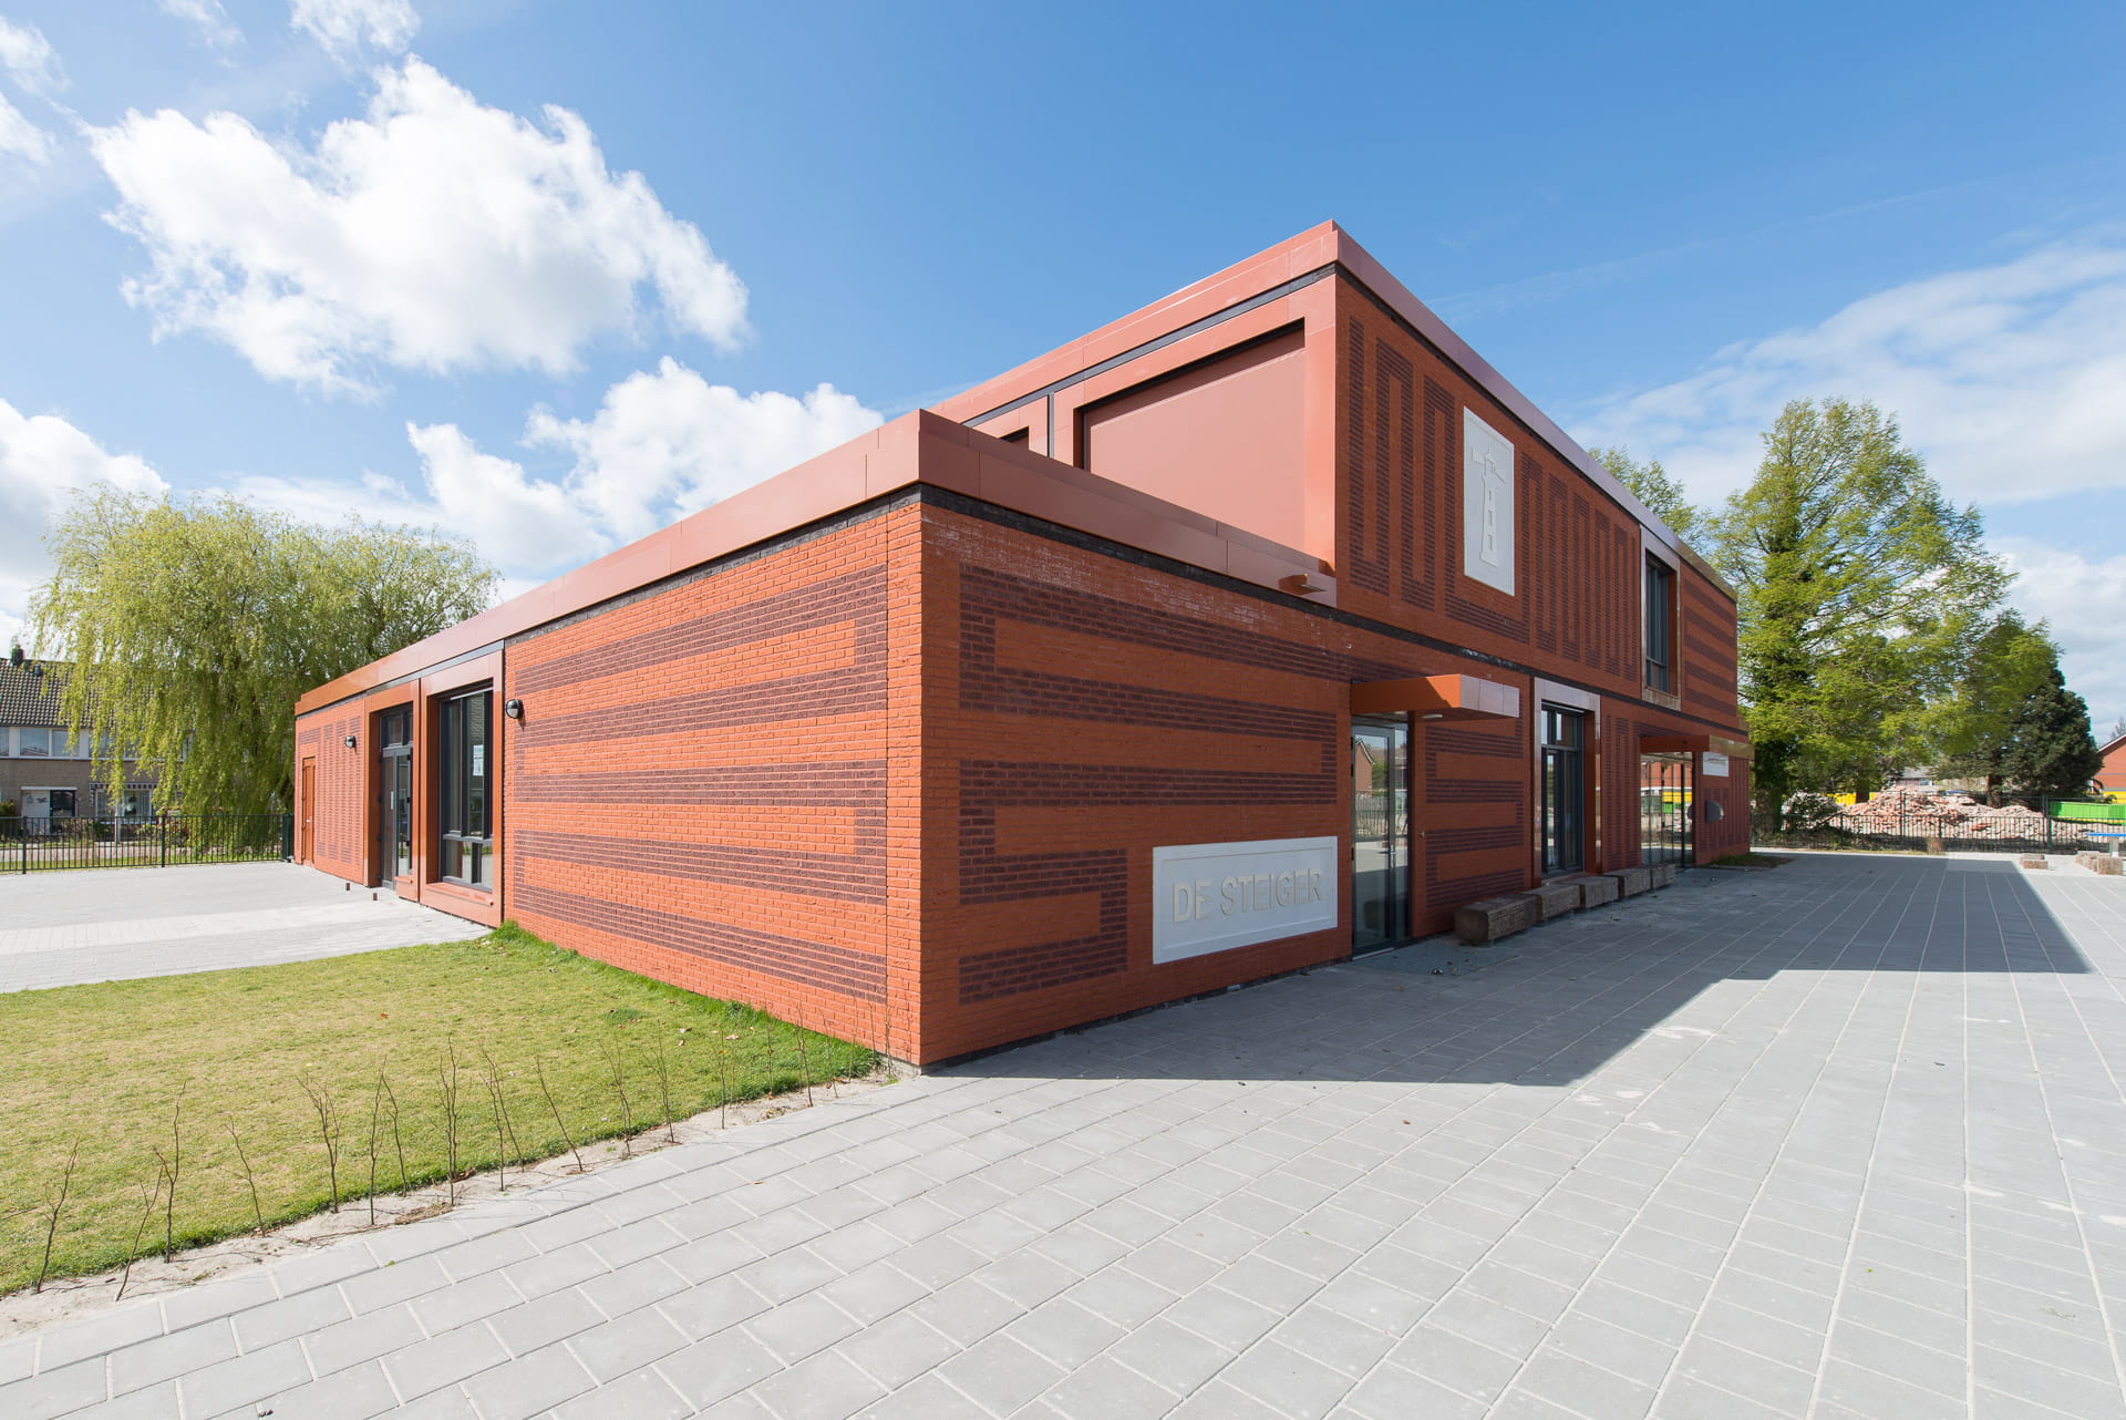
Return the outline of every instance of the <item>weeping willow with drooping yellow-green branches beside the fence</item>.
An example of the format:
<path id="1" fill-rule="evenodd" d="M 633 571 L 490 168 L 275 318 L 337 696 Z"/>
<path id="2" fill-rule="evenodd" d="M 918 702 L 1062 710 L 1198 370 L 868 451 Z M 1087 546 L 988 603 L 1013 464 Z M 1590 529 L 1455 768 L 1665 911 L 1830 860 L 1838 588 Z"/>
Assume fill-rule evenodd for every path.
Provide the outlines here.
<path id="1" fill-rule="evenodd" d="M 79 495 L 47 534 L 30 608 L 74 731 L 176 812 L 283 812 L 296 697 L 487 608 L 461 540 L 349 519 L 315 527 L 236 497 Z"/>

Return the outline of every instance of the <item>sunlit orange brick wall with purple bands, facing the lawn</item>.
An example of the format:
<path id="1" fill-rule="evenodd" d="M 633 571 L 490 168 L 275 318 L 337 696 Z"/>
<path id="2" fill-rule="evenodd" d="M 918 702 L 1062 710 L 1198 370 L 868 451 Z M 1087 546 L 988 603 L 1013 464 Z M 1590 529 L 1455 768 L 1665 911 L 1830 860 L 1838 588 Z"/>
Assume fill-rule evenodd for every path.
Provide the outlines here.
<path id="1" fill-rule="evenodd" d="M 912 508 L 608 604 L 506 650 L 506 910 L 561 946 L 904 1050 L 889 721 Z M 897 565 L 899 563 L 899 565 Z M 908 638 L 908 640 L 901 640 Z M 904 880 L 906 886 L 906 880 Z"/>

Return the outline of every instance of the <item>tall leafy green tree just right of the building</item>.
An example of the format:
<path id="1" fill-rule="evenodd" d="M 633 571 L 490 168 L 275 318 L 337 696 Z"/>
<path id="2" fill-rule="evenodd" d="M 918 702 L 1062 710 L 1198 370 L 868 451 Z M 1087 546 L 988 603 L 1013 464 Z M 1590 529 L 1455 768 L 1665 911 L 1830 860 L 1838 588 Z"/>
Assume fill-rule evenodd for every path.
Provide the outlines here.
<path id="1" fill-rule="evenodd" d="M 2009 574 L 1873 404 L 1794 400 L 1765 461 L 1709 525 L 1737 589 L 1756 808 L 1875 789 L 1924 755 Z"/>

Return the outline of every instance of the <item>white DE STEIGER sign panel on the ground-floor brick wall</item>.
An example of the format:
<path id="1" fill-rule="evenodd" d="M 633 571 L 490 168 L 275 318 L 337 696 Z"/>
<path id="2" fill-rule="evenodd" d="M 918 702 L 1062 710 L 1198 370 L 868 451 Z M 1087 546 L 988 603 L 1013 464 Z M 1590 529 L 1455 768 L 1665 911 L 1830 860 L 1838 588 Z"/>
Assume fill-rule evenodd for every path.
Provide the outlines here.
<path id="1" fill-rule="evenodd" d="M 1335 927 L 1335 840 L 1152 848 L 1152 961 Z"/>

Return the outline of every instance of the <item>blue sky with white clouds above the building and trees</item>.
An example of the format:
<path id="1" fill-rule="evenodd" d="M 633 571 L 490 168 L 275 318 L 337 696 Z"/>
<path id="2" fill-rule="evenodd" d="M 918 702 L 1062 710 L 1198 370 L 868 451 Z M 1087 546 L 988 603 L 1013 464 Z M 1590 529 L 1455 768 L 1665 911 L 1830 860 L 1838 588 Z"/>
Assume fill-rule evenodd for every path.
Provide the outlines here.
<path id="1" fill-rule="evenodd" d="M 523 585 L 1342 221 L 1701 500 L 1894 410 L 2126 716 L 2126 9 L 0 0 L 0 636 L 68 489 Z"/>

